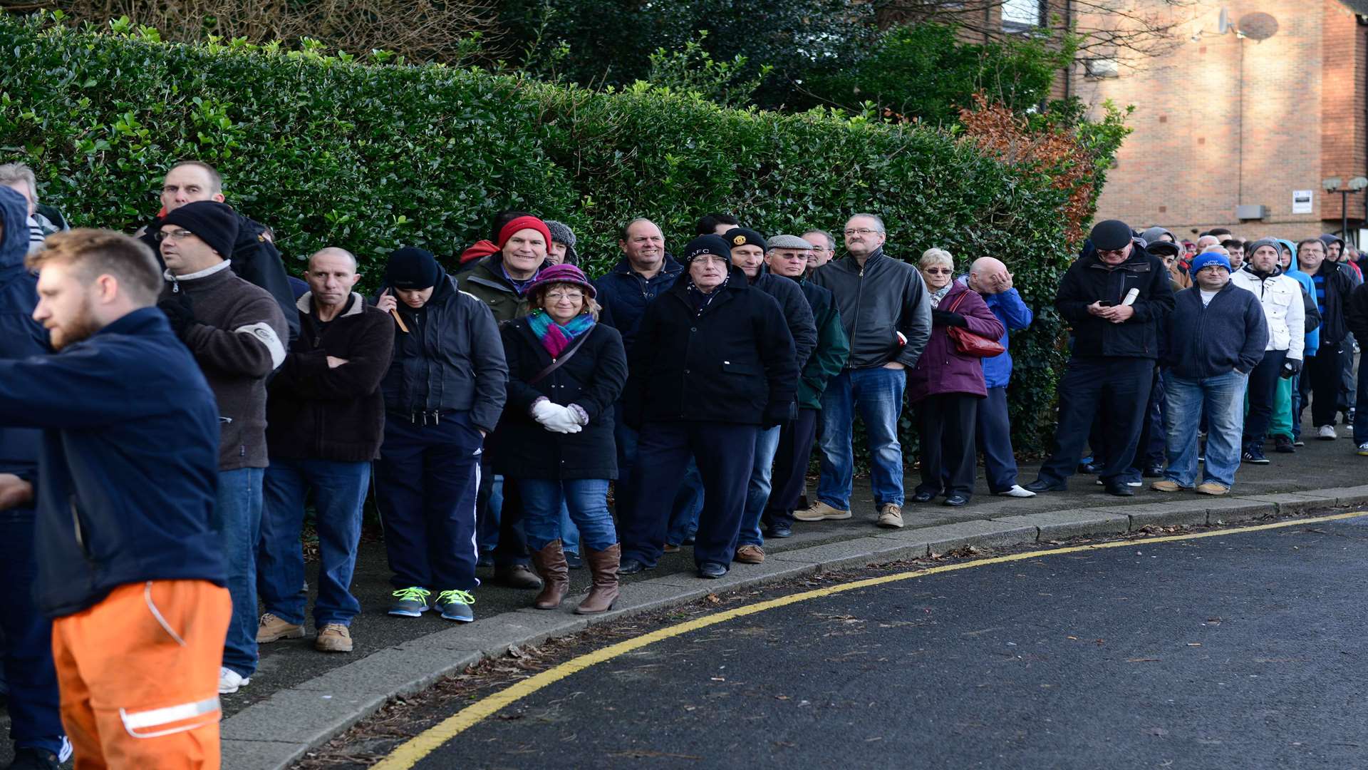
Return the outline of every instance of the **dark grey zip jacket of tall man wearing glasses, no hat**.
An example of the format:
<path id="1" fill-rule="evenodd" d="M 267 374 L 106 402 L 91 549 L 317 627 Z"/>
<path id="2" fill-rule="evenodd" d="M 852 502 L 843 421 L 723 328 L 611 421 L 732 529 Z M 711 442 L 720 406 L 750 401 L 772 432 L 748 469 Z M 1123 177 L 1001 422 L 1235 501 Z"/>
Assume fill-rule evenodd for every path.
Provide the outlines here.
<path id="1" fill-rule="evenodd" d="M 892 360 L 907 369 L 917 366 L 932 336 L 932 304 L 915 267 L 878 248 L 863 267 L 847 255 L 818 267 L 811 281 L 836 297 L 851 347 L 845 369 L 874 369 Z M 897 332 L 907 337 L 902 348 Z"/>

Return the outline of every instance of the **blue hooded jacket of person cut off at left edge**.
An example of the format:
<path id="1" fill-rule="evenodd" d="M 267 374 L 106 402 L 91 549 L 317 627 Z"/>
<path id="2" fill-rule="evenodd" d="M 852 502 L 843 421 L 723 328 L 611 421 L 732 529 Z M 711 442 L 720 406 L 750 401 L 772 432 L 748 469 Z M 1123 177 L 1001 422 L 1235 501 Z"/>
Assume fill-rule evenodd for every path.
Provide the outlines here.
<path id="1" fill-rule="evenodd" d="M 0 359 L 48 352 L 48 333 L 33 319 L 38 280 L 23 266 L 29 252 L 29 206 L 23 196 L 0 186 Z M 34 481 L 42 434 L 27 427 L 0 427 L 0 473 Z M 33 508 L 21 508 L 33 515 Z M 3 515 L 3 514 L 0 514 Z"/>

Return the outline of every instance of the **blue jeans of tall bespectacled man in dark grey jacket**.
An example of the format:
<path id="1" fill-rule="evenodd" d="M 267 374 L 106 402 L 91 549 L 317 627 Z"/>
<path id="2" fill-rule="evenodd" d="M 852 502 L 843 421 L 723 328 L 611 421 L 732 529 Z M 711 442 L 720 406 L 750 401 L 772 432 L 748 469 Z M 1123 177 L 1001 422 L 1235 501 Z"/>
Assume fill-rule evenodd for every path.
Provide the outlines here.
<path id="1" fill-rule="evenodd" d="M 851 434 L 859 411 L 869 437 L 874 507 L 903 504 L 903 447 L 897 443 L 897 419 L 906 388 L 907 370 L 903 369 L 847 369 L 832 377 L 822 393 L 822 427 L 817 441 L 822 451 L 818 500 L 843 511 L 851 507 L 855 481 Z"/>

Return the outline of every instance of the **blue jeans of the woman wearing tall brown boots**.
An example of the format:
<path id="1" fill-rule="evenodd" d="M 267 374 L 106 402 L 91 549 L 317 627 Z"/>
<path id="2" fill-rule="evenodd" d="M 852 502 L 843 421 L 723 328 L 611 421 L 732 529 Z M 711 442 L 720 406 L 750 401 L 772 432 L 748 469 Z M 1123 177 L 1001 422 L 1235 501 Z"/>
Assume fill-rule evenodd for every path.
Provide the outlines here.
<path id="1" fill-rule="evenodd" d="M 605 551 L 617 543 L 613 515 L 607 512 L 606 478 L 520 478 L 517 484 L 523 488 L 527 544 L 534 551 L 561 538 L 562 510 L 569 510 L 588 549 Z"/>

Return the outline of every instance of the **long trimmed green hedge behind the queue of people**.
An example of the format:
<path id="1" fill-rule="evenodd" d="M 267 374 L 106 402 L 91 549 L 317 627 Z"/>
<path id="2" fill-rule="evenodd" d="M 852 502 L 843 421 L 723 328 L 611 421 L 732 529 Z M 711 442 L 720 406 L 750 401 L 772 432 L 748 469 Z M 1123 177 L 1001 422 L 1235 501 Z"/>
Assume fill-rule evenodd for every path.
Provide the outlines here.
<path id="1" fill-rule="evenodd" d="M 964 137 L 724 110 L 644 84 L 596 93 L 241 41 L 164 44 L 42 15 L 0 14 L 0 159 L 31 164 L 71 222 L 131 232 L 157 210 L 166 169 L 197 158 L 223 173 L 228 203 L 274 227 L 293 271 L 323 245 L 353 251 L 372 277 L 399 245 L 449 259 L 503 208 L 569 223 L 591 273 L 617 259 L 632 216 L 677 247 L 709 211 L 766 233 L 837 232 L 874 211 L 892 255 L 1000 256 L 1038 310 L 1012 340 L 1015 440 L 1048 437 L 1062 332 L 1048 308 L 1077 245 L 1060 215 L 1070 190 Z"/>

